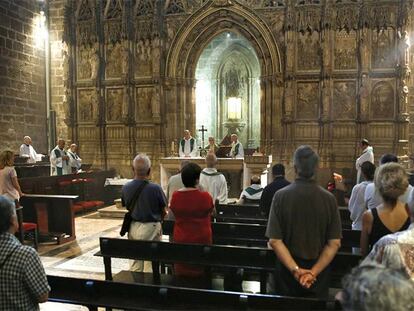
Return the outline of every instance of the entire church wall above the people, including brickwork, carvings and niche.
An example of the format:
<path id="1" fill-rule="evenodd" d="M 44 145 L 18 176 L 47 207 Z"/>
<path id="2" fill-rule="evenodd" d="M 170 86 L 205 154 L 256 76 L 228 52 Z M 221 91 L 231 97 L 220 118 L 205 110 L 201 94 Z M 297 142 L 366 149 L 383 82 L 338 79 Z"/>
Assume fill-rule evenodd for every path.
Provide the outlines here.
<path id="1" fill-rule="evenodd" d="M 0 3 L 2 147 L 58 137 L 131 174 L 189 129 L 291 163 L 351 169 L 358 142 L 410 165 L 409 0 L 33 0 Z M 410 119 L 411 118 L 411 119 Z M 154 172 L 154 179 L 159 172 Z"/>

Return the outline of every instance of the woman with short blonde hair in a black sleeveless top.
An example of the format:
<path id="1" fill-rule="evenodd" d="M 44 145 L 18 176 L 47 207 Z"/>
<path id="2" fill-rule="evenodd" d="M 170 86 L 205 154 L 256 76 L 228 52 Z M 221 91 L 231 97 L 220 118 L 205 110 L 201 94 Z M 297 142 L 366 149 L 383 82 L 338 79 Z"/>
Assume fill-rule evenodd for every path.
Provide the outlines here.
<path id="1" fill-rule="evenodd" d="M 362 216 L 362 256 L 365 257 L 369 248 L 383 236 L 406 230 L 410 225 L 405 204 L 398 200 L 407 187 L 407 173 L 400 164 L 387 163 L 379 167 L 375 176 L 375 188 L 383 203 Z"/>

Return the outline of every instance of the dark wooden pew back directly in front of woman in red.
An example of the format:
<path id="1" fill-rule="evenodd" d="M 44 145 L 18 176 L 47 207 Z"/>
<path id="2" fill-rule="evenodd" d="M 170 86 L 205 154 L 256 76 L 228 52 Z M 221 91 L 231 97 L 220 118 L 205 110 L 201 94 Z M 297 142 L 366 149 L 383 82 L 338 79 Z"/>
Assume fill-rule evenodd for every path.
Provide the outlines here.
<path id="1" fill-rule="evenodd" d="M 266 225 L 216 222 L 211 224 L 213 244 L 267 247 Z M 174 221 L 164 220 L 162 232 L 172 236 Z M 342 249 L 359 247 L 360 231 L 342 230 Z"/>

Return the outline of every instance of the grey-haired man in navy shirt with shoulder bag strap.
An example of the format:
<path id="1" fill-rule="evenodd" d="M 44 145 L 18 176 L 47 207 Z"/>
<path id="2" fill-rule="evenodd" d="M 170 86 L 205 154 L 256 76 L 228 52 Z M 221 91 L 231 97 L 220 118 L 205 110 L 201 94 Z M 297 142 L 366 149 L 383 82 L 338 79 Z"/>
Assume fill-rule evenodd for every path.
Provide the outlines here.
<path id="1" fill-rule="evenodd" d="M 167 199 L 161 187 L 149 182 L 151 173 L 151 161 L 144 155 L 139 154 L 133 161 L 134 179 L 122 187 L 122 205 L 129 207 L 132 223 L 128 231 L 130 240 L 161 240 L 161 221 L 164 218 Z M 146 183 L 142 192 L 135 202 L 133 197 L 138 188 Z M 137 272 L 151 272 L 151 263 L 142 260 L 134 260 L 131 270 Z"/>

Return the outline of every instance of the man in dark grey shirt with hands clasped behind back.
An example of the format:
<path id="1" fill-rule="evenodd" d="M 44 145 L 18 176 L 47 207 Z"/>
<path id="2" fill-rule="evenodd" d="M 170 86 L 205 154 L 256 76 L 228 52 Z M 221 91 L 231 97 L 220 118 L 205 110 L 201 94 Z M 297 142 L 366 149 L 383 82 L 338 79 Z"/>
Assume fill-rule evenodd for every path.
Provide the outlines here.
<path id="1" fill-rule="evenodd" d="M 293 161 L 297 178 L 276 192 L 266 230 L 279 259 L 274 291 L 326 299 L 328 266 L 341 246 L 339 211 L 335 197 L 314 180 L 319 157 L 312 148 L 300 146 Z"/>

